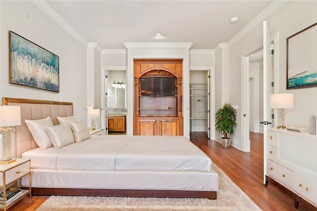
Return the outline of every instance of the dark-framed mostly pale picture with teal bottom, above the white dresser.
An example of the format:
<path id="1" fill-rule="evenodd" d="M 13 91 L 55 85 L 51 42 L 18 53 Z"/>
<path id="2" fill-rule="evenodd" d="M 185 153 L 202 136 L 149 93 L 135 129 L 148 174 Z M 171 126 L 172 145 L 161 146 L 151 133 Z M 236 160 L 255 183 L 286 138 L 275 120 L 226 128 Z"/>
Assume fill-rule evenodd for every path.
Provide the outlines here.
<path id="1" fill-rule="evenodd" d="M 317 23 L 286 39 L 286 89 L 317 87 Z"/>

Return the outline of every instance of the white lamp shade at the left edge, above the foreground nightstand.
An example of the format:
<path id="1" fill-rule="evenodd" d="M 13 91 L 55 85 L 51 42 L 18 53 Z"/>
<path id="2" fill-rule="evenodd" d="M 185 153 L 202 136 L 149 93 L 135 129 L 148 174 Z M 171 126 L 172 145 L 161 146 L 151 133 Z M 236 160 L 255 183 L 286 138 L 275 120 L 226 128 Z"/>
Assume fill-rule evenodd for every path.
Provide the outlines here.
<path id="1" fill-rule="evenodd" d="M 0 106 L 0 127 L 21 125 L 20 106 Z"/>

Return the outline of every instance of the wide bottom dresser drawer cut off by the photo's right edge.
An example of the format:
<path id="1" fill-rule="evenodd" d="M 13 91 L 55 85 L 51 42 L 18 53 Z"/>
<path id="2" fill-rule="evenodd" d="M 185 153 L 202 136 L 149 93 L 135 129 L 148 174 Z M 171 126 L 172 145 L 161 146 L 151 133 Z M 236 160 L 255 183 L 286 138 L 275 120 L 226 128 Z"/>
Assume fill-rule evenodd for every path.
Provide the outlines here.
<path id="1" fill-rule="evenodd" d="M 310 173 L 305 175 L 294 173 L 292 189 L 317 204 L 317 176 Z"/>

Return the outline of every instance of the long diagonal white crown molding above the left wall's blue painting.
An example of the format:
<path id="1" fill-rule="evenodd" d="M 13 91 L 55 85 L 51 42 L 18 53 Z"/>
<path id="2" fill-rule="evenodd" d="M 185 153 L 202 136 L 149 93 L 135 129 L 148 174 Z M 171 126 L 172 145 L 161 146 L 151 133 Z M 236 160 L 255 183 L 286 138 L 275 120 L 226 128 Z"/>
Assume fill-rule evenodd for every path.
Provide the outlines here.
<path id="1" fill-rule="evenodd" d="M 30 0 L 35 6 L 48 15 L 62 29 L 68 32 L 74 39 L 84 46 L 88 46 L 88 41 L 79 34 L 62 16 L 60 16 L 45 0 Z"/>

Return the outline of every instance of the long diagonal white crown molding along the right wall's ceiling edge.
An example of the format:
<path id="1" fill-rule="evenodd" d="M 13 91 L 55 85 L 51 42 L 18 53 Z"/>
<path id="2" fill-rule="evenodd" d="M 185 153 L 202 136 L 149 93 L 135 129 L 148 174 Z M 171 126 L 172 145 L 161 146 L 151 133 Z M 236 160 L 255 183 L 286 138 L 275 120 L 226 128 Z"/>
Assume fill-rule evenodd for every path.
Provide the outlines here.
<path id="1" fill-rule="evenodd" d="M 259 13 L 253 20 L 251 20 L 243 29 L 241 29 L 235 36 L 233 36 L 227 43 L 231 47 L 239 40 L 244 38 L 252 30 L 262 24 L 269 16 L 281 8 L 288 0 L 273 0 L 261 13 Z"/>

